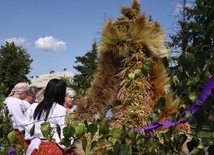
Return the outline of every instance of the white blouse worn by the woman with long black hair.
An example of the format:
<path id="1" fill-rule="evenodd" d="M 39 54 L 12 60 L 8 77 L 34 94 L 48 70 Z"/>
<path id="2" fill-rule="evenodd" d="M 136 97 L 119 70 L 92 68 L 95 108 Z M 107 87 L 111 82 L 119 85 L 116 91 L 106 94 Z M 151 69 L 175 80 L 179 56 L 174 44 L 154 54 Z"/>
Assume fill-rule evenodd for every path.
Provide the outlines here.
<path id="1" fill-rule="evenodd" d="M 26 123 L 25 139 L 31 140 L 30 146 L 28 147 L 28 150 L 27 150 L 27 155 L 31 154 L 31 152 L 34 149 L 38 149 L 39 145 L 41 143 L 41 140 L 45 139 L 45 137 L 43 136 L 43 134 L 41 133 L 41 130 L 40 130 L 41 124 L 43 122 L 45 122 L 43 116 L 41 116 L 39 121 L 38 120 L 35 121 L 33 118 L 33 114 L 34 114 L 34 111 L 35 111 L 37 105 L 38 105 L 38 103 L 33 103 L 25 113 L 25 115 L 26 115 L 26 117 L 25 117 L 25 123 Z M 54 140 L 58 144 L 61 139 L 56 131 L 56 126 L 58 124 L 61 127 L 61 138 L 63 138 L 62 129 L 66 126 L 66 122 L 65 122 L 65 115 L 67 114 L 66 111 L 67 110 L 65 107 L 59 105 L 58 103 L 53 103 L 49 116 L 48 116 L 48 120 L 47 120 L 50 122 L 50 125 L 53 128 L 52 140 Z M 34 134 L 33 134 L 33 136 L 30 136 L 30 130 L 34 124 L 35 124 Z M 59 145 L 59 146 L 62 149 L 64 149 L 64 146 L 62 146 L 62 145 Z"/>

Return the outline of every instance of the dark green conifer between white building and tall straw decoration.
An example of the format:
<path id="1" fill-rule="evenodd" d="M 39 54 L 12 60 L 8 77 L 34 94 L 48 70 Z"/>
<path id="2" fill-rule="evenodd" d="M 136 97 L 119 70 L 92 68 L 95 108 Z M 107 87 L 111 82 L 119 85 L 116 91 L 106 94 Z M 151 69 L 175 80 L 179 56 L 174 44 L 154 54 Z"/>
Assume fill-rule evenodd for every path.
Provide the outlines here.
<path id="1" fill-rule="evenodd" d="M 96 72 L 96 58 L 97 58 L 97 44 L 92 45 L 92 50 L 87 52 L 84 56 L 77 56 L 75 63 L 80 63 L 74 66 L 80 74 L 76 74 L 73 78 L 74 85 L 72 87 L 77 91 L 78 96 L 85 94 L 85 91 L 91 86 L 90 82 L 93 80 L 93 74 Z"/>

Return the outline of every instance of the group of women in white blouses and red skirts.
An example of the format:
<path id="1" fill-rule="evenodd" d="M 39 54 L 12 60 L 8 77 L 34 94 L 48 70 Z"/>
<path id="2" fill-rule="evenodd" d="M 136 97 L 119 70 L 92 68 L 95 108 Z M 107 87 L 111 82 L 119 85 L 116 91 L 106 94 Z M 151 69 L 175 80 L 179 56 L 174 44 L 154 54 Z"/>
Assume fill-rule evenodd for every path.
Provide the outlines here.
<path id="1" fill-rule="evenodd" d="M 27 148 L 26 155 L 73 154 L 72 150 L 65 153 L 65 146 L 60 144 L 60 138 L 63 138 L 62 129 L 66 126 L 66 114 L 76 109 L 75 96 L 75 90 L 67 87 L 60 79 L 51 79 L 47 86 L 39 91 L 24 82 L 14 86 L 4 102 L 13 121 L 17 140 L 24 142 Z M 41 132 L 41 125 L 47 121 L 53 129 L 50 141 Z M 61 128 L 61 137 L 56 131 L 58 125 Z M 71 145 L 72 143 L 73 139 Z"/>

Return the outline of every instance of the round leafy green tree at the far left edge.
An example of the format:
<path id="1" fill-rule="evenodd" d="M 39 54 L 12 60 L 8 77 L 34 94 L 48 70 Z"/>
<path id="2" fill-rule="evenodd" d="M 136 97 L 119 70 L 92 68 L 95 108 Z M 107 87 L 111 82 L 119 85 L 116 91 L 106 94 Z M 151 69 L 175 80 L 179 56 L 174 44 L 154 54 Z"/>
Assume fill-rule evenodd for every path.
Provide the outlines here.
<path id="1" fill-rule="evenodd" d="M 27 74 L 33 59 L 22 46 L 6 42 L 0 48 L 0 90 L 7 96 L 18 82 L 29 82 Z"/>

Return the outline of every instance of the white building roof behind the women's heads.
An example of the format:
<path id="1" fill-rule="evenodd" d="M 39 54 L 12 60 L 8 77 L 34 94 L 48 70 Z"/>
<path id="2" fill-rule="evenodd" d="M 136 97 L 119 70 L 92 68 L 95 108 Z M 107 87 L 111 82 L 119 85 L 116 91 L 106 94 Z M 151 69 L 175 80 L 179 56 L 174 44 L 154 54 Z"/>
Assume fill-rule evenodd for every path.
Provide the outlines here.
<path id="1" fill-rule="evenodd" d="M 53 78 L 57 78 L 57 79 L 66 78 L 66 79 L 72 80 L 73 77 L 74 77 L 74 74 L 65 69 L 63 72 L 55 73 L 54 71 L 50 71 L 50 74 L 32 76 L 29 79 L 31 81 L 31 86 L 35 86 L 37 88 L 44 88 L 47 85 L 48 81 Z"/>

